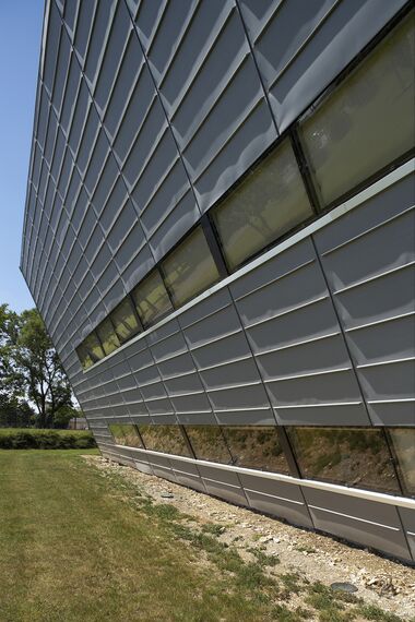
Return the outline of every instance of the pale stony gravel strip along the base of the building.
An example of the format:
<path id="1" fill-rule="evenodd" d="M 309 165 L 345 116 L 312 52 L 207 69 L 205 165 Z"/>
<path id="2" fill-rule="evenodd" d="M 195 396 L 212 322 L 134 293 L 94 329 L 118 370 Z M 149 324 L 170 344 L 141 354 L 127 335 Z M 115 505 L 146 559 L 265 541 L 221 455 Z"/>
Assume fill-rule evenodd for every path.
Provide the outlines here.
<path id="1" fill-rule="evenodd" d="M 310 582 L 320 581 L 328 586 L 349 583 L 367 603 L 403 620 L 415 617 L 413 567 L 99 456 L 84 458 L 104 476 L 117 471 L 155 502 L 173 504 L 201 525 L 220 526 L 218 539 L 237 548 L 242 558 L 251 560 L 256 550 L 277 555 L 280 563 L 268 571 L 273 576 L 298 573 Z"/>

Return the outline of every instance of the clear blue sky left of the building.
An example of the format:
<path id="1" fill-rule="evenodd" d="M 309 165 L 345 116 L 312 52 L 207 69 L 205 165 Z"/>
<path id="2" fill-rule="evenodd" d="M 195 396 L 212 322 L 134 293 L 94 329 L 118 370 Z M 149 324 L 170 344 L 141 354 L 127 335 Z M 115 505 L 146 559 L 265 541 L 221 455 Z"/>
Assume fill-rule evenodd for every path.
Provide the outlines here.
<path id="1" fill-rule="evenodd" d="M 43 0 L 0 0 L 0 303 L 34 307 L 20 273 Z"/>

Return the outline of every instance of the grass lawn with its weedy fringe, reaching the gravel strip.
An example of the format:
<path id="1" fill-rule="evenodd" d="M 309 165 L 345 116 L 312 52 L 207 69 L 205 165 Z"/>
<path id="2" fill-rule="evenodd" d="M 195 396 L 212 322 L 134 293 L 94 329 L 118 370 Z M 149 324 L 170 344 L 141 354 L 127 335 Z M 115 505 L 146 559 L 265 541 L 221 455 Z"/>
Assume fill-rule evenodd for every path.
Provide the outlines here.
<path id="1" fill-rule="evenodd" d="M 0 622 L 399 620 L 294 575 L 273 581 L 266 557 L 244 562 L 85 453 L 0 451 Z M 292 591 L 304 593 L 294 613 Z"/>

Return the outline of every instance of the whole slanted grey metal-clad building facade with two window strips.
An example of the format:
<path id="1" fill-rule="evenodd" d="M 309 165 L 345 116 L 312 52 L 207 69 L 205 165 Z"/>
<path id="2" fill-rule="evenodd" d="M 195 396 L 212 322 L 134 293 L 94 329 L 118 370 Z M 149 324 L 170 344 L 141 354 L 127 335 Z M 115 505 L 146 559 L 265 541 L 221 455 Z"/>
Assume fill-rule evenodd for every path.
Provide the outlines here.
<path id="1" fill-rule="evenodd" d="M 47 0 L 21 258 L 105 456 L 408 562 L 412 7 Z"/>

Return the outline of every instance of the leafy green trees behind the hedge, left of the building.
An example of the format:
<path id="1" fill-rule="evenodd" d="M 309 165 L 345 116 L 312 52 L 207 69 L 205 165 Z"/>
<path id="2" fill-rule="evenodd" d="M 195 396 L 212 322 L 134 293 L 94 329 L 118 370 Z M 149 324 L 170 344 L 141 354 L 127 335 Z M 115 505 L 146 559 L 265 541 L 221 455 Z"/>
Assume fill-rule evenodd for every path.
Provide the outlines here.
<path id="1" fill-rule="evenodd" d="M 34 406 L 34 423 L 51 428 L 72 408 L 72 391 L 45 324 L 36 309 L 21 314 L 0 306 L 0 424 L 14 408 L 27 417 Z M 9 415 L 7 415 L 9 412 Z M 63 417 L 64 419 L 64 417 Z"/>

